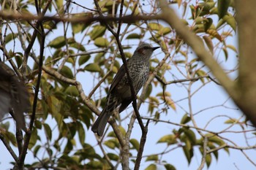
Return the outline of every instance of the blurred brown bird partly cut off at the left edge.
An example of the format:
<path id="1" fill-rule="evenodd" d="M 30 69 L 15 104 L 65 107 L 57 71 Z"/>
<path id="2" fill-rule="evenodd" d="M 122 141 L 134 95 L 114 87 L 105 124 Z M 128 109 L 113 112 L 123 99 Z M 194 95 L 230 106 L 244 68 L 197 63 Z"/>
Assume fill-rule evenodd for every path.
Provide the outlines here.
<path id="1" fill-rule="evenodd" d="M 26 86 L 18 80 L 15 72 L 0 61 L 0 120 L 8 112 L 18 128 L 26 128 L 24 112 L 29 110 L 29 93 Z"/>

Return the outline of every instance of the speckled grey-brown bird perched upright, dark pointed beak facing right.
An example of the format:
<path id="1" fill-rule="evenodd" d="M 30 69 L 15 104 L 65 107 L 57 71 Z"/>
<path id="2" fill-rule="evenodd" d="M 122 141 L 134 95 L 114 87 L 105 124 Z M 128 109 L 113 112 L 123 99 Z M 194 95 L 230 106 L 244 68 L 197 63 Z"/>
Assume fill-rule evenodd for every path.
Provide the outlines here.
<path id="1" fill-rule="evenodd" d="M 138 94 L 140 88 L 142 88 L 146 80 L 148 80 L 149 60 L 154 50 L 158 48 L 159 47 L 152 47 L 146 42 L 140 42 L 135 53 L 127 60 L 128 72 L 132 80 L 135 95 Z M 123 64 L 113 78 L 106 98 L 105 107 L 102 109 L 99 117 L 97 117 L 94 125 L 92 125 L 91 131 L 97 133 L 98 136 L 102 136 L 108 119 L 113 115 L 113 110 L 121 105 L 118 109 L 118 113 L 123 112 L 132 102 L 132 99 L 127 73 Z"/>

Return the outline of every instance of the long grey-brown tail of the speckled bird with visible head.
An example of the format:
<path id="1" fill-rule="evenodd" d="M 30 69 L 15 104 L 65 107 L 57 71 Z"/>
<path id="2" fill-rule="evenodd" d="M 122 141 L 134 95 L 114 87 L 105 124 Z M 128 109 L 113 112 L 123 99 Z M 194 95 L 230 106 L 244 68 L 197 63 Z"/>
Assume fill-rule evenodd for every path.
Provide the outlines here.
<path id="1" fill-rule="evenodd" d="M 108 119 L 113 114 L 113 110 L 116 109 L 116 107 L 118 107 L 118 99 L 115 96 L 110 95 L 105 108 L 100 113 L 94 125 L 92 125 L 91 131 L 102 136 L 108 123 Z"/>

